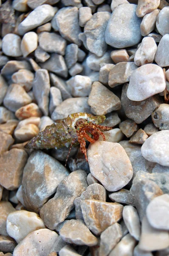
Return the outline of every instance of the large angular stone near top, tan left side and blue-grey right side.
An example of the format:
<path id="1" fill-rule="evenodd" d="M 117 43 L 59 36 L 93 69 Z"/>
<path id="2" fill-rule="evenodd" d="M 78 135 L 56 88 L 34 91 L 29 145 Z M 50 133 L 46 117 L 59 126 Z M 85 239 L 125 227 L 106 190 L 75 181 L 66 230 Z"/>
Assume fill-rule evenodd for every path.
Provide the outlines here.
<path id="1" fill-rule="evenodd" d="M 78 38 L 81 29 L 78 19 L 77 7 L 64 7 L 60 9 L 54 19 L 59 29 L 60 35 L 71 43 L 81 45 L 81 41 Z"/>

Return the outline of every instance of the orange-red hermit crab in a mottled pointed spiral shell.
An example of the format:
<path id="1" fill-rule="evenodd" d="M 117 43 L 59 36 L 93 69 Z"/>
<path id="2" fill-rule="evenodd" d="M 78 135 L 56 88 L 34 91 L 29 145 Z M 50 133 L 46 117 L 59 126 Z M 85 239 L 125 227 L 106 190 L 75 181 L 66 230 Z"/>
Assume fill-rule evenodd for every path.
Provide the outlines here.
<path id="1" fill-rule="evenodd" d="M 79 143 L 80 150 L 85 154 L 85 159 L 87 160 L 85 140 L 94 143 L 99 139 L 99 135 L 105 140 L 102 131 L 112 129 L 108 126 L 99 125 L 105 119 L 105 116 L 93 116 L 88 113 L 70 114 L 67 118 L 56 120 L 54 124 L 47 126 L 44 131 L 41 131 L 36 137 L 31 139 L 25 145 L 25 148 L 58 149 L 66 146 L 71 149 L 72 145 Z M 91 135 L 93 137 L 90 137 Z"/>

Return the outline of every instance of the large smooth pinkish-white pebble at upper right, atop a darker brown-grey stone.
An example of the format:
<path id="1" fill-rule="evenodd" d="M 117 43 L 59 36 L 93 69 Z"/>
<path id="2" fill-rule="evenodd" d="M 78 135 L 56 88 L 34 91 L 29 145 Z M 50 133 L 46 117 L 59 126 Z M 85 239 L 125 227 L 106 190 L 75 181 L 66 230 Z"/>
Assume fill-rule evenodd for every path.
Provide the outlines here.
<path id="1" fill-rule="evenodd" d="M 133 101 L 142 101 L 161 93 L 165 87 L 162 68 L 155 64 L 146 64 L 132 72 L 127 97 Z"/>

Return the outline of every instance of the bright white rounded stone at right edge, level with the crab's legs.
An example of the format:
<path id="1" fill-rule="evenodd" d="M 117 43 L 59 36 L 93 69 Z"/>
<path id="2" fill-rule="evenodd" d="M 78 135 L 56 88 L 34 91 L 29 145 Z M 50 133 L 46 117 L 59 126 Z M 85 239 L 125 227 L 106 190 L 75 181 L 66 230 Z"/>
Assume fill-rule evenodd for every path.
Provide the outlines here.
<path id="1" fill-rule="evenodd" d="M 143 157 L 162 166 L 169 166 L 169 130 L 158 131 L 152 134 L 141 147 Z"/>

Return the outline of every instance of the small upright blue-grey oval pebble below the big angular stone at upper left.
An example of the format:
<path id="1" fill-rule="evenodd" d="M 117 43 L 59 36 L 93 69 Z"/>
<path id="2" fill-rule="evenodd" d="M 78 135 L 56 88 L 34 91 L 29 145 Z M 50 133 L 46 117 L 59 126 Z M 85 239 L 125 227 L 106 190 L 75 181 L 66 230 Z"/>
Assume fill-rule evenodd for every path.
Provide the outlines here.
<path id="1" fill-rule="evenodd" d="M 77 55 L 78 55 L 78 45 L 77 44 L 69 44 L 66 47 L 66 52 L 65 52 L 65 62 L 66 65 L 68 67 L 68 69 L 70 69 L 71 67 L 73 67 L 73 65 L 76 64 L 77 62 Z"/>

